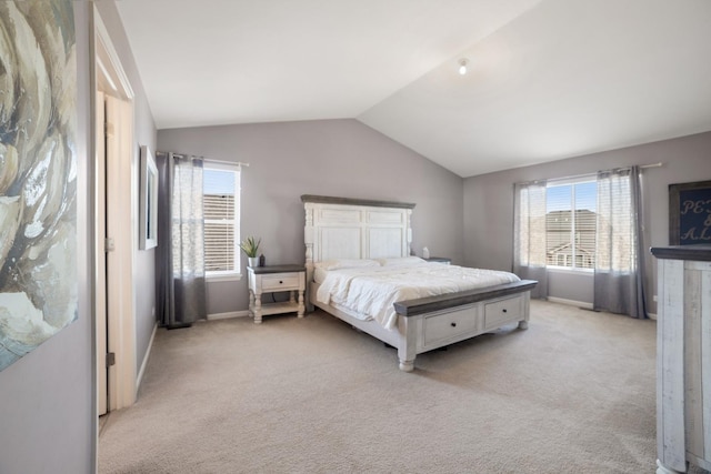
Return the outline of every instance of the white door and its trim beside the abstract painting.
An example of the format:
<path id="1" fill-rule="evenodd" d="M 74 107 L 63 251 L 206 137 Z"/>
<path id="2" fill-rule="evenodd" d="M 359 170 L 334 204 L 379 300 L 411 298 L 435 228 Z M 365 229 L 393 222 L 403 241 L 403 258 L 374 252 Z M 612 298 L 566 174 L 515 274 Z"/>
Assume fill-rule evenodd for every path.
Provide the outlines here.
<path id="1" fill-rule="evenodd" d="M 136 402 L 134 251 L 138 249 L 133 91 L 93 9 L 97 70 L 96 291 L 99 414 Z M 107 246 L 111 250 L 104 252 Z M 114 361 L 107 366 L 107 355 Z"/>

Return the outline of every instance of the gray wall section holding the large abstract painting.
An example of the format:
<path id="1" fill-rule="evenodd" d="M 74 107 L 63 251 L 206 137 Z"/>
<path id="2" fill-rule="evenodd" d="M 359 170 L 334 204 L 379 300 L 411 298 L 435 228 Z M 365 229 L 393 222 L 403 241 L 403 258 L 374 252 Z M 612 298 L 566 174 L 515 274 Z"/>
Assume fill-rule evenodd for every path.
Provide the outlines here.
<path id="1" fill-rule="evenodd" d="M 90 2 L 73 2 L 78 58 L 79 319 L 0 372 L 0 473 L 91 473 L 96 453 L 91 222 Z"/>

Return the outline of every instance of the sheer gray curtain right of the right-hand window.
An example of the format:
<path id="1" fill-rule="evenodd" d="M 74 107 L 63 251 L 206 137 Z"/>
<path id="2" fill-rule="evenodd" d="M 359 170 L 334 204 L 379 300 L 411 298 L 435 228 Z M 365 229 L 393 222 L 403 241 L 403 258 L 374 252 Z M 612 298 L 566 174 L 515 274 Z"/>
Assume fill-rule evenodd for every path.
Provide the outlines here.
<path id="1" fill-rule="evenodd" d="M 598 173 L 595 310 L 647 317 L 638 167 Z"/>

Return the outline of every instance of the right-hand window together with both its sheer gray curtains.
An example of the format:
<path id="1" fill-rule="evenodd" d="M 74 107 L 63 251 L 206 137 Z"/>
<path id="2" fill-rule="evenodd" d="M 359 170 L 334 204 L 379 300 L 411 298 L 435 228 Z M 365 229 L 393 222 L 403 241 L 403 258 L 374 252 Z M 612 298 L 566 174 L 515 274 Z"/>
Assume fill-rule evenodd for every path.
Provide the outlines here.
<path id="1" fill-rule="evenodd" d="M 514 184 L 513 271 L 539 282 L 534 296 L 551 271 L 594 272 L 594 307 L 643 317 L 640 178 L 631 167 Z"/>

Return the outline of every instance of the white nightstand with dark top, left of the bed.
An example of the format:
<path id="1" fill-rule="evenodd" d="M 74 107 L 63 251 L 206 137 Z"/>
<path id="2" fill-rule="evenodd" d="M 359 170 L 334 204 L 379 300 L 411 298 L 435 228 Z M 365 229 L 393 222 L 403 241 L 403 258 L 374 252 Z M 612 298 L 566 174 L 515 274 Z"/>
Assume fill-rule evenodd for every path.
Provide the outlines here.
<path id="1" fill-rule="evenodd" d="M 268 314 L 293 313 L 303 317 L 303 292 L 307 288 L 306 268 L 301 265 L 248 266 L 249 311 L 254 324 L 262 322 Z M 281 303 L 262 303 L 262 294 L 289 292 L 289 301 Z"/>

